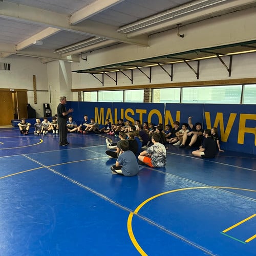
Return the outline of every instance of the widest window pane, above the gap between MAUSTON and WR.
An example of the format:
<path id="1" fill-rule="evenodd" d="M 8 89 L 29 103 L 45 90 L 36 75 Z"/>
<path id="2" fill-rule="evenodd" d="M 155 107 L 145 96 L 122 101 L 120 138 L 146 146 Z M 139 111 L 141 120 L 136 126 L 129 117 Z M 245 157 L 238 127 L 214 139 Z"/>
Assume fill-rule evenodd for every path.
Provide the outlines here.
<path id="1" fill-rule="evenodd" d="M 242 86 L 182 88 L 182 103 L 240 104 Z"/>

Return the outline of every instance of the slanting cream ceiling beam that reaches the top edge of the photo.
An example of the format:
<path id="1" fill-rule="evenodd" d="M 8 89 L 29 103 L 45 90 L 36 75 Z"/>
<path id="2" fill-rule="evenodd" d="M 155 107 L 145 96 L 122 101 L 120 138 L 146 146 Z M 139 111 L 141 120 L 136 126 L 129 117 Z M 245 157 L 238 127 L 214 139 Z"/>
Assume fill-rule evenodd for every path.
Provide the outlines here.
<path id="1" fill-rule="evenodd" d="M 72 13 L 69 18 L 70 25 L 75 25 L 82 22 L 84 19 L 90 18 L 123 1 L 124 0 L 96 0 L 93 3 L 84 6 L 82 9 Z"/>

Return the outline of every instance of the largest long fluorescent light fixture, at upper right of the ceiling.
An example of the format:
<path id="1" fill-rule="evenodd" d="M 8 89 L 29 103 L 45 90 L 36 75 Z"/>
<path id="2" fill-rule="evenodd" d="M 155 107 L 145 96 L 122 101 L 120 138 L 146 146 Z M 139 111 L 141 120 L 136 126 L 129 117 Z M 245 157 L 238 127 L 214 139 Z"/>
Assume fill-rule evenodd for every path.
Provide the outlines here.
<path id="1" fill-rule="evenodd" d="M 142 28 L 146 28 L 148 26 L 158 24 L 164 22 L 166 20 L 176 18 L 178 16 L 187 14 L 189 12 L 197 11 L 202 8 L 206 8 L 212 5 L 216 5 L 222 2 L 226 2 L 227 0 L 199 0 L 193 1 L 189 4 L 181 5 L 179 7 L 169 9 L 167 11 L 160 12 L 158 14 L 152 15 L 147 18 L 143 18 L 138 22 L 131 23 L 125 26 L 120 27 L 117 32 L 120 33 L 129 33 L 132 31 L 136 31 Z"/>

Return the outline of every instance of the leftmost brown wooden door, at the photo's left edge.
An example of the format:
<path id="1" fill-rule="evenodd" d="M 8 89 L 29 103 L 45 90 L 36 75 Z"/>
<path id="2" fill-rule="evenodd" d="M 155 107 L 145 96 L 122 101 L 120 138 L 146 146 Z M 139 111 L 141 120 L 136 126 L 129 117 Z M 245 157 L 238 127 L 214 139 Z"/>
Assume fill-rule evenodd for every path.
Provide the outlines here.
<path id="1" fill-rule="evenodd" d="M 0 125 L 11 125 L 11 120 L 14 119 L 12 92 L 0 91 L 0 109 L 3 110 Z"/>

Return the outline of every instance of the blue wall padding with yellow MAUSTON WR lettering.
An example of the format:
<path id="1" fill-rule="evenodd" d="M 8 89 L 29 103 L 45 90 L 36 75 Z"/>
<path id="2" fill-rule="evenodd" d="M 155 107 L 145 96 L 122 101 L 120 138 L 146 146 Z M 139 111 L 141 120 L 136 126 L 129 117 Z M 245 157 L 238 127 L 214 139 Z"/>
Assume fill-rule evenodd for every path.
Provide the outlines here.
<path id="1" fill-rule="evenodd" d="M 80 122 L 84 114 L 96 119 L 102 126 L 106 118 L 125 120 L 140 119 L 158 124 L 201 122 L 203 128 L 218 128 L 223 150 L 256 155 L 256 108 L 246 104 L 182 104 L 182 103 L 116 103 L 116 102 L 67 102 L 73 108 L 74 120 Z"/>

